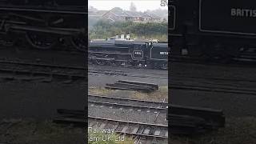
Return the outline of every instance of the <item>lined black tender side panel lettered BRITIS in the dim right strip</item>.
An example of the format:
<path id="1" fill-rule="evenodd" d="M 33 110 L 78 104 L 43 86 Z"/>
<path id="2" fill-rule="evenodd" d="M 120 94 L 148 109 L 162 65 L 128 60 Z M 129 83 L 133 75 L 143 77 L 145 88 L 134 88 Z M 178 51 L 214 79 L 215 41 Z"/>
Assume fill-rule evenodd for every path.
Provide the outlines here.
<path id="1" fill-rule="evenodd" d="M 256 34 L 255 5 L 254 0 L 200 0 L 200 29 L 218 33 Z M 218 10 L 214 8 L 216 6 Z"/>

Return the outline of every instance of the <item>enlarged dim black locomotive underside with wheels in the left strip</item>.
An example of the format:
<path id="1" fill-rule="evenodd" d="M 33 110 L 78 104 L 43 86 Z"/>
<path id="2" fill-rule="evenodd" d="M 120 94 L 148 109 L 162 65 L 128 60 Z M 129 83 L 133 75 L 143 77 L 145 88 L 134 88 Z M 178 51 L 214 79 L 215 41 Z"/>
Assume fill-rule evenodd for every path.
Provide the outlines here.
<path id="1" fill-rule="evenodd" d="M 0 0 L 2 40 L 26 38 L 38 49 L 50 49 L 60 41 L 86 50 L 86 1 Z"/>

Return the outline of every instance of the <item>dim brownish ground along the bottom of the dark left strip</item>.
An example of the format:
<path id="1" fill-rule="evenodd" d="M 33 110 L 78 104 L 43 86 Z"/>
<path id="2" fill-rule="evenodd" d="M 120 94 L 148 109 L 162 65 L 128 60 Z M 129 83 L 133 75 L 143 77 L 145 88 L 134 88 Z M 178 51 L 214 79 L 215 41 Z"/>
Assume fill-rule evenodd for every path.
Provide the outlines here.
<path id="1" fill-rule="evenodd" d="M 6 126 L 4 126 L 6 125 Z M 50 121 L 11 119 L 0 121 L 1 144 L 85 144 L 85 130 Z"/>

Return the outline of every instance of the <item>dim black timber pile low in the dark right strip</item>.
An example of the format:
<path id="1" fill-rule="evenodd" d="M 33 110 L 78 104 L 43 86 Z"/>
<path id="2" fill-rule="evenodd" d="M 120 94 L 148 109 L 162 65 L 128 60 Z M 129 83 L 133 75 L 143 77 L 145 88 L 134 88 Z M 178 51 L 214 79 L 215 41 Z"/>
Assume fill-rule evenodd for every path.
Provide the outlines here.
<path id="1" fill-rule="evenodd" d="M 170 134 L 203 134 L 225 126 L 222 110 L 169 105 Z"/>

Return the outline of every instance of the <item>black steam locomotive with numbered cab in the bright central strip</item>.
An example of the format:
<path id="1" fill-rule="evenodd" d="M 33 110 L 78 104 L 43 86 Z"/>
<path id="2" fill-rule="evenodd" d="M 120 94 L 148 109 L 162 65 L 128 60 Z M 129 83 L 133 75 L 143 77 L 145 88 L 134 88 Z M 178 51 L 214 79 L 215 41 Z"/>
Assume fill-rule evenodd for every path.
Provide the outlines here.
<path id="1" fill-rule="evenodd" d="M 115 40 L 89 42 L 89 62 L 98 65 L 142 66 L 167 69 L 168 44 Z"/>

